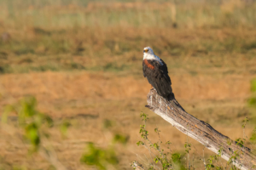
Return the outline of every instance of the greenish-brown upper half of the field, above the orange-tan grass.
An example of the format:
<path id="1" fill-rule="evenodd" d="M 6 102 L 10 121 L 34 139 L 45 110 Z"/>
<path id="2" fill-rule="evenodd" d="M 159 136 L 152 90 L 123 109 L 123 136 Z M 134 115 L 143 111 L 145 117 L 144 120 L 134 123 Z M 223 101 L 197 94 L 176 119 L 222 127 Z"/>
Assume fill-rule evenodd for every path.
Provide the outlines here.
<path id="1" fill-rule="evenodd" d="M 198 66 L 236 67 L 225 63 L 234 54 L 255 61 L 255 2 L 132 2 L 0 1 L 0 74 L 73 70 L 135 74 L 141 69 L 144 46 L 154 48 L 169 68 L 188 65 L 191 75 L 197 74 Z M 230 73 L 237 71 L 224 71 Z"/>

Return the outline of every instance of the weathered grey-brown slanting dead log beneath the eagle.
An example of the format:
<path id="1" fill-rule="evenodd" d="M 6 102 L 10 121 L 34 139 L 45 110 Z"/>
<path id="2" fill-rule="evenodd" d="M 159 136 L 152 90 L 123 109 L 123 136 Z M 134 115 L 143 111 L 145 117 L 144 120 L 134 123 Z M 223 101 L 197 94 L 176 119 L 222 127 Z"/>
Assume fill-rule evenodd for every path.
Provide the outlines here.
<path id="1" fill-rule="evenodd" d="M 183 110 L 183 107 L 178 104 L 174 94 L 168 100 L 162 98 L 152 88 L 148 93 L 148 107 L 149 110 L 154 111 L 167 122 L 170 122 L 173 127 L 176 127 L 182 133 L 188 134 L 189 137 L 197 140 L 205 145 L 207 149 L 212 150 L 218 154 L 218 150 L 222 148 L 222 158 L 229 161 L 230 156 L 234 151 L 238 151 L 239 157 L 233 163 L 241 170 L 254 169 L 256 167 L 256 156 L 252 151 L 245 147 L 236 144 L 236 141 L 219 133 L 211 125 L 203 122 L 192 115 L 189 115 Z M 230 141 L 230 145 L 228 144 Z"/>

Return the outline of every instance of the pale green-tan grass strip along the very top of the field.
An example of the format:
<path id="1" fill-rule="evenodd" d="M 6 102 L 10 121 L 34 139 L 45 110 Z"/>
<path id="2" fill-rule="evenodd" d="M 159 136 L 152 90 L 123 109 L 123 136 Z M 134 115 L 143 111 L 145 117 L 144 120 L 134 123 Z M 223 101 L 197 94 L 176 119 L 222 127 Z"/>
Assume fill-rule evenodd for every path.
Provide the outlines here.
<path id="1" fill-rule="evenodd" d="M 120 2 L 123 2 L 120 3 Z M 255 3 L 240 1 L 0 1 L 7 24 L 20 27 L 76 28 L 86 26 L 223 27 L 255 26 Z M 126 4 L 125 4 L 126 3 Z M 132 4 L 133 3 L 133 4 Z M 135 6 L 137 5 L 137 6 Z M 53 7 L 53 8 L 49 8 Z M 54 10 L 58 8 L 59 10 Z M 5 19 L 6 20 L 6 19 Z M 22 20 L 27 20 L 22 22 Z M 175 25 L 176 26 L 176 25 Z M 37 33 L 51 35 L 38 29 Z"/>

